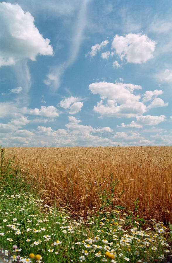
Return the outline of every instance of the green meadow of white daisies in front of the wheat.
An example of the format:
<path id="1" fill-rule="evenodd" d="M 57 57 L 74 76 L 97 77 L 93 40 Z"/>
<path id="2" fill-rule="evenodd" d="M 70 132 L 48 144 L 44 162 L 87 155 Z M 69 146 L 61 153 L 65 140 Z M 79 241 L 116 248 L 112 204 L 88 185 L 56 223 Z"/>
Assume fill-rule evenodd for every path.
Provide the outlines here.
<path id="1" fill-rule="evenodd" d="M 13 160 L 0 173 L 0 262 L 171 262 L 171 224 L 135 216 L 137 202 L 134 212 L 106 205 L 74 217 L 42 199 Z"/>

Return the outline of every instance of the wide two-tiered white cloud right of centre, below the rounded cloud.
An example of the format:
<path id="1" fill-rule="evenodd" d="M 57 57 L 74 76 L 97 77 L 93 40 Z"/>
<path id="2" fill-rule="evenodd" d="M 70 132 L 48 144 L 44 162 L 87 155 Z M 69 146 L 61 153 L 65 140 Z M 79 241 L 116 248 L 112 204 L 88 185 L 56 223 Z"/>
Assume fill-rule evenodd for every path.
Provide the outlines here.
<path id="1" fill-rule="evenodd" d="M 125 83 L 97 82 L 89 85 L 93 94 L 100 94 L 102 100 L 94 106 L 94 111 L 101 116 L 136 117 L 146 112 L 146 105 L 140 102 L 140 95 L 133 94 L 141 86 Z M 104 105 L 103 99 L 107 98 Z"/>

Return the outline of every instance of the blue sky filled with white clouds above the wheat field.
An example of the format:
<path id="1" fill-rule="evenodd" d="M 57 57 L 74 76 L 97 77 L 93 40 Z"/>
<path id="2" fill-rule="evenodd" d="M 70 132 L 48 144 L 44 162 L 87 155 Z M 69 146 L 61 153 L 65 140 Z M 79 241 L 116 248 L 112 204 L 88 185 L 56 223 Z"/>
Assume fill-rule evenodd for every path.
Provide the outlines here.
<path id="1" fill-rule="evenodd" d="M 0 1 L 0 145 L 171 146 L 171 13 L 171 0 Z"/>

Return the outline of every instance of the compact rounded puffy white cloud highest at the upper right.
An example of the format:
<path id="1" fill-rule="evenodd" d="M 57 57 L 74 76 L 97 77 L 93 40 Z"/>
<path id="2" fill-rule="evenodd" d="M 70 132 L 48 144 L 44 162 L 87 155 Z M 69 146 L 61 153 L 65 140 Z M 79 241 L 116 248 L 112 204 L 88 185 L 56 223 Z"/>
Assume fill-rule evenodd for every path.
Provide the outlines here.
<path id="1" fill-rule="evenodd" d="M 112 42 L 112 48 L 121 60 L 128 63 L 144 63 L 153 58 L 155 42 L 145 34 L 127 34 L 125 37 L 116 35 Z"/>

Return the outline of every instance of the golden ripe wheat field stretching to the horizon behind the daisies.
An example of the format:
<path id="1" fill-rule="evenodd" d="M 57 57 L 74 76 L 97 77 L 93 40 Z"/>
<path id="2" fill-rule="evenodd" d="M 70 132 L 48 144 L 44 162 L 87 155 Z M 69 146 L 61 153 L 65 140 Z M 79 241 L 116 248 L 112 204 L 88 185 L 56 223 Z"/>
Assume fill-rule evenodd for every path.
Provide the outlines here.
<path id="1" fill-rule="evenodd" d="M 113 173 L 119 180 L 114 205 L 132 210 L 138 197 L 140 217 L 172 221 L 172 147 L 6 148 L 8 156 L 12 151 L 49 202 L 56 197 L 59 205 L 86 214 L 100 207 L 105 188 L 111 192 Z"/>

